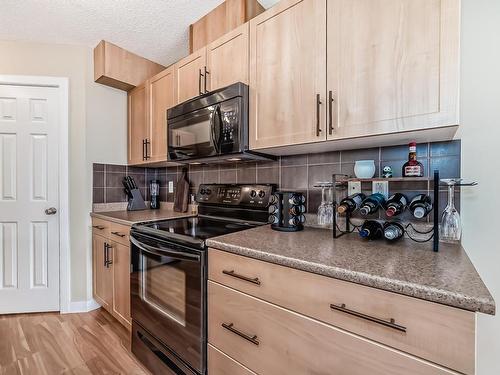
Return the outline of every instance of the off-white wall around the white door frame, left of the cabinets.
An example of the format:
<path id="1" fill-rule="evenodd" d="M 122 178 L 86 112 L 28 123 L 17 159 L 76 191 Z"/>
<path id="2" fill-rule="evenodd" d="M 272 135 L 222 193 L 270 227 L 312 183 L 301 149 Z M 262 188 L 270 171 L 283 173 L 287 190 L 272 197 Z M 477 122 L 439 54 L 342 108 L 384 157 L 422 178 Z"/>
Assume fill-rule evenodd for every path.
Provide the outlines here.
<path id="1" fill-rule="evenodd" d="M 92 49 L 0 41 L 0 74 L 68 77 L 71 298 L 91 297 L 92 162 L 126 163 L 126 93 L 93 82 Z"/>

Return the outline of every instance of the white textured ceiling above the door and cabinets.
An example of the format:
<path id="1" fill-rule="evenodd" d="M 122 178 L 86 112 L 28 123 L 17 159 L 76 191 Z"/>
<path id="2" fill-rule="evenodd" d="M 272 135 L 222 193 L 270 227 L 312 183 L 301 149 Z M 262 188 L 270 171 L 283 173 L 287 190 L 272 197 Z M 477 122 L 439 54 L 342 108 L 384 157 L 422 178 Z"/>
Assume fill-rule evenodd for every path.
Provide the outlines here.
<path id="1" fill-rule="evenodd" d="M 0 40 L 101 39 L 163 65 L 188 54 L 189 25 L 223 0 L 0 0 Z M 268 8 L 278 0 L 260 0 Z"/>

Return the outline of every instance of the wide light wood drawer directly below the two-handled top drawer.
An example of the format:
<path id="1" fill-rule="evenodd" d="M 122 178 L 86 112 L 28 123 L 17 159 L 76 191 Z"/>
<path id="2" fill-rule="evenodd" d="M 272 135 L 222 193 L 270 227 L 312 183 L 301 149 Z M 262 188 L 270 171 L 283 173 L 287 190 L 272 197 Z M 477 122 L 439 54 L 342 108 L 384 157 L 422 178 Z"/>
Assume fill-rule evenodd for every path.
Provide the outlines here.
<path id="1" fill-rule="evenodd" d="M 208 284 L 208 341 L 258 374 L 454 374 L 223 285 Z"/>

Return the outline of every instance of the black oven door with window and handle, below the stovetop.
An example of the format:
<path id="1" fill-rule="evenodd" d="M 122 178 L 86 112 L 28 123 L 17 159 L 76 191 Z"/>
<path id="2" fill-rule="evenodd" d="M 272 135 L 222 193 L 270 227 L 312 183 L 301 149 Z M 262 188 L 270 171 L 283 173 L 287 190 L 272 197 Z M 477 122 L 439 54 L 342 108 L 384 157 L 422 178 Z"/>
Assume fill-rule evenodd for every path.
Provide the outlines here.
<path id="1" fill-rule="evenodd" d="M 131 234 L 132 320 L 199 374 L 206 367 L 205 253 Z"/>

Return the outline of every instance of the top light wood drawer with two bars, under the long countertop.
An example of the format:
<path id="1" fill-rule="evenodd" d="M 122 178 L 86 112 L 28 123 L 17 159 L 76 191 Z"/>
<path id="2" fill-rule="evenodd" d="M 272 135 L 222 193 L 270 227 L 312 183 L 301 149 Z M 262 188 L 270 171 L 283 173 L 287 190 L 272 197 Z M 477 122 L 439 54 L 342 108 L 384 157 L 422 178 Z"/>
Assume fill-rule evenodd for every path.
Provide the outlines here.
<path id="1" fill-rule="evenodd" d="M 210 249 L 209 279 L 473 374 L 475 314 Z"/>

